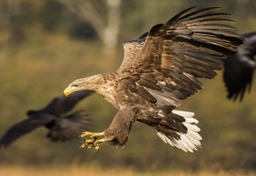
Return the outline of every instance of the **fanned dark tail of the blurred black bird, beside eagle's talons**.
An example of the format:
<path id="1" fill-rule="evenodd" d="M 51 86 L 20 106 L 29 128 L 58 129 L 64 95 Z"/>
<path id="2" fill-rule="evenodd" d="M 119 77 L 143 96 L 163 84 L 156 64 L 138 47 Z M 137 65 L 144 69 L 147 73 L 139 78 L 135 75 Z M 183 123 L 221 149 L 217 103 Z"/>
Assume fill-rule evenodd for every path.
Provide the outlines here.
<path id="1" fill-rule="evenodd" d="M 77 138 L 83 131 L 92 127 L 92 121 L 86 111 L 58 118 L 50 129 L 48 137 L 52 141 L 69 141 Z"/>

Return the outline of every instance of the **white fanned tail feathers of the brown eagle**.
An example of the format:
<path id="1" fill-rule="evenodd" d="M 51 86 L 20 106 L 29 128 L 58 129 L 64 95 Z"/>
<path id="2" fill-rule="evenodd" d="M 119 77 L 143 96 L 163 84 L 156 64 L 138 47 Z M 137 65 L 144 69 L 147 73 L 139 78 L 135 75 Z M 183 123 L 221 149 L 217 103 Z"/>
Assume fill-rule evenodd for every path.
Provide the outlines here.
<path id="1" fill-rule="evenodd" d="M 159 136 L 164 143 L 169 143 L 169 145 L 175 146 L 185 152 L 193 152 L 193 150 L 197 150 L 201 145 L 200 140 L 202 137 L 198 133 L 200 132 L 200 128 L 197 126 L 199 121 L 193 118 L 194 113 L 178 110 L 173 110 L 172 113 L 184 117 L 184 121 L 182 123 L 187 128 L 186 133 L 175 131 L 179 137 L 169 136 L 167 134 L 163 134 L 160 129 L 154 128 L 156 135 Z"/>

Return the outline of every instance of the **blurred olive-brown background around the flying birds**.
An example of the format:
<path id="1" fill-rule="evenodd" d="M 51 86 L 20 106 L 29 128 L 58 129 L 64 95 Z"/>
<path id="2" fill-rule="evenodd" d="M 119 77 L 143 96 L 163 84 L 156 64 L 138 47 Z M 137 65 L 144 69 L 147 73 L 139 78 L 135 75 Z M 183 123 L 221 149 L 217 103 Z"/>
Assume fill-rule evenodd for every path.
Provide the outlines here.
<path id="1" fill-rule="evenodd" d="M 74 79 L 117 70 L 124 40 L 194 5 L 220 6 L 233 14 L 237 33 L 256 31 L 255 0 L 1 0 L 0 136 L 25 119 L 27 110 L 40 109 L 61 95 Z M 0 170 L 6 165 L 97 165 L 140 172 L 256 170 L 256 83 L 239 103 L 226 99 L 222 71 L 202 82 L 205 89 L 179 107 L 200 121 L 202 148 L 194 153 L 162 143 L 152 128 L 139 122 L 124 149 L 104 144 L 97 153 L 79 150 L 79 139 L 51 143 L 44 137 L 46 129 L 38 128 L 0 150 Z M 75 109 L 87 110 L 94 131 L 108 128 L 117 112 L 97 94 Z"/>

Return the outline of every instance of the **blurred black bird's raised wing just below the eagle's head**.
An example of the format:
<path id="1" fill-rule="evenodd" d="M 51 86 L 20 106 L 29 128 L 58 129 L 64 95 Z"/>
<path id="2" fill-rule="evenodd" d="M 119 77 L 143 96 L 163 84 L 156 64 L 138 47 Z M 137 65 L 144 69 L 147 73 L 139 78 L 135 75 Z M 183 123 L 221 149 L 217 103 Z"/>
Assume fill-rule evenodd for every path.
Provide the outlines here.
<path id="1" fill-rule="evenodd" d="M 84 91 L 72 93 L 72 95 L 68 97 L 61 95 L 52 99 L 46 107 L 41 109 L 41 111 L 48 114 L 65 114 L 69 112 L 73 106 L 76 106 L 80 100 L 85 99 L 92 93 L 92 91 Z"/>

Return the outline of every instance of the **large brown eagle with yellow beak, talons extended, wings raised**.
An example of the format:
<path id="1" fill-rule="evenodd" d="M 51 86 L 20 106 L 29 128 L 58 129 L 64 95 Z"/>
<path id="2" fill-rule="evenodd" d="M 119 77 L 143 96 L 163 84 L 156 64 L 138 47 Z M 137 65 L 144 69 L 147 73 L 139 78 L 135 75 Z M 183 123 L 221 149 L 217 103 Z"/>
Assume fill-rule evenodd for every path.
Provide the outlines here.
<path id="1" fill-rule="evenodd" d="M 66 88 L 66 95 L 94 90 L 118 109 L 108 129 L 82 135 L 89 136 L 82 146 L 98 150 L 103 142 L 123 145 L 134 121 L 153 127 L 163 142 L 184 151 L 200 146 L 193 113 L 174 108 L 202 89 L 196 77 L 215 77 L 222 59 L 236 53 L 242 43 L 234 28 L 224 25 L 231 22 L 229 15 L 211 12 L 216 9 L 192 7 L 178 13 L 125 42 L 124 61 L 116 72 L 78 79 Z"/>

